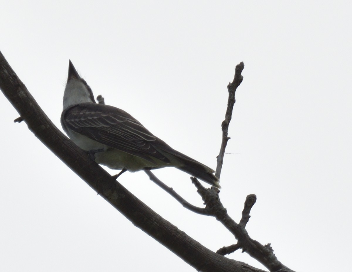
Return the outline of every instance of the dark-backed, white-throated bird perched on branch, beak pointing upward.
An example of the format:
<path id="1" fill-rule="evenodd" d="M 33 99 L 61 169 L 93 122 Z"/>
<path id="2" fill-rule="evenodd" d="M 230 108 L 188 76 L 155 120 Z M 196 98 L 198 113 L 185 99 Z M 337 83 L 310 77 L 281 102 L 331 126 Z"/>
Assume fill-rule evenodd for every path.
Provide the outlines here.
<path id="1" fill-rule="evenodd" d="M 220 188 L 213 169 L 172 149 L 127 112 L 96 103 L 71 61 L 61 124 L 78 147 L 94 154 L 95 162 L 120 173 L 172 166 Z"/>

